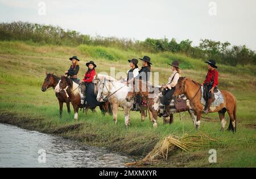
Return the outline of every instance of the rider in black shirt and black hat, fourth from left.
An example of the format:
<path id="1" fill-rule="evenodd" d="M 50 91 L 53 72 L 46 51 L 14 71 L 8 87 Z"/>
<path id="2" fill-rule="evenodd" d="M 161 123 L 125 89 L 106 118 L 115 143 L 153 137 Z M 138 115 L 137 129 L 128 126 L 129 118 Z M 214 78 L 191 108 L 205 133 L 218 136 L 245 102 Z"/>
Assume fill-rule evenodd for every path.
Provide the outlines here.
<path id="1" fill-rule="evenodd" d="M 142 60 L 142 68 L 139 70 L 139 74 L 136 76 L 136 79 L 142 79 L 147 84 L 147 82 L 150 80 L 151 65 L 153 64 L 150 62 L 150 57 L 148 56 L 144 56 L 143 58 L 139 59 Z M 142 98 L 139 95 L 137 95 L 137 103 L 146 106 L 146 101 L 142 101 Z"/>

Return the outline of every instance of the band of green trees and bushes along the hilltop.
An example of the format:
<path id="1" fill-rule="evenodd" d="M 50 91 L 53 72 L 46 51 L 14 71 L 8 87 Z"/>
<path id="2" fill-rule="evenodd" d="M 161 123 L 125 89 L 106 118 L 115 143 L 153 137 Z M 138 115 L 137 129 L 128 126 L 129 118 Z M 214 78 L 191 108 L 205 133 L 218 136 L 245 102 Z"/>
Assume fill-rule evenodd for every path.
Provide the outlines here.
<path id="1" fill-rule="evenodd" d="M 192 46 L 192 41 L 175 39 L 150 39 L 144 41 L 120 39 L 117 37 L 92 37 L 80 32 L 65 30 L 53 25 L 44 25 L 28 22 L 0 23 L 0 40 L 2 41 L 32 41 L 40 44 L 69 45 L 81 44 L 113 46 L 125 50 L 139 52 L 172 52 L 185 54 L 188 57 L 203 60 L 212 58 L 218 63 L 236 66 L 256 65 L 256 54 L 245 45 L 237 46 L 229 42 L 201 39 L 198 46 Z"/>

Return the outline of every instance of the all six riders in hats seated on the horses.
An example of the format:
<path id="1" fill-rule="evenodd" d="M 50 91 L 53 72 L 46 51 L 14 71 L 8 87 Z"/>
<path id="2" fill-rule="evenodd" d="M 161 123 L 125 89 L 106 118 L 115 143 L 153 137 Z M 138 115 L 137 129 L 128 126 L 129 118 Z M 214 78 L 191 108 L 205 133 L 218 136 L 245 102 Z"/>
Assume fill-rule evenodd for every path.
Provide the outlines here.
<path id="1" fill-rule="evenodd" d="M 70 66 L 68 71 L 65 71 L 65 75 L 69 76 L 69 78 L 71 78 L 73 82 L 80 84 L 81 93 L 83 93 L 83 96 L 85 96 L 85 99 L 81 99 L 81 104 L 86 104 L 90 107 L 96 107 L 99 104 L 99 102 L 96 100 L 93 83 L 94 76 L 96 75 L 96 64 L 93 61 L 89 61 L 85 64 L 88 67 L 88 70 L 86 71 L 84 78 L 81 81 L 79 78 L 77 78 L 77 74 L 79 73 L 79 58 L 77 58 L 77 56 L 73 56 L 69 59 L 72 61 L 72 65 Z M 130 63 L 130 70 L 127 71 L 127 80 L 125 82 L 127 83 L 127 85 L 129 84 L 129 82 L 131 82 L 132 79 L 142 79 L 146 82 L 150 80 L 150 72 L 152 66 L 152 63 L 150 62 L 151 58 L 148 56 L 144 56 L 143 58 L 139 59 L 141 59 L 142 61 L 142 67 L 140 70 L 138 67 L 138 59 L 133 58 L 128 60 L 128 62 Z M 201 86 L 203 86 L 206 91 L 205 108 L 203 112 L 207 114 L 209 113 L 210 105 L 214 101 L 213 92 L 216 91 L 218 86 L 218 71 L 216 62 L 213 59 L 209 59 L 205 63 L 208 64 L 208 73 Z M 162 115 L 163 117 L 170 116 L 169 109 L 172 100 L 172 95 L 174 94 L 175 86 L 181 76 L 178 61 L 168 63 L 168 65 L 171 66 L 172 74 L 168 79 L 168 83 L 162 84 L 162 89 L 164 93 L 160 103 L 162 103 L 165 106 L 164 114 Z M 140 110 L 140 106 L 146 106 L 146 103 L 147 102 L 144 99 L 142 99 L 141 96 L 137 95 L 137 98 L 134 101 L 133 110 Z"/>

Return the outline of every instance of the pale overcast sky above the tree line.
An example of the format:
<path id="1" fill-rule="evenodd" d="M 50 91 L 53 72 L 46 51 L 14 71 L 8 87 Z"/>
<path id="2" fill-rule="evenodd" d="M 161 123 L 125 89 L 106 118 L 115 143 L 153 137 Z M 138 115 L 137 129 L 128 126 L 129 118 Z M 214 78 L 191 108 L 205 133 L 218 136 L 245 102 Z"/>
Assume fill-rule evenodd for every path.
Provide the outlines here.
<path id="1" fill-rule="evenodd" d="M 256 51 L 255 0 L 0 0 L 0 22 L 14 21 L 91 36 L 189 39 L 194 46 L 228 41 Z"/>

